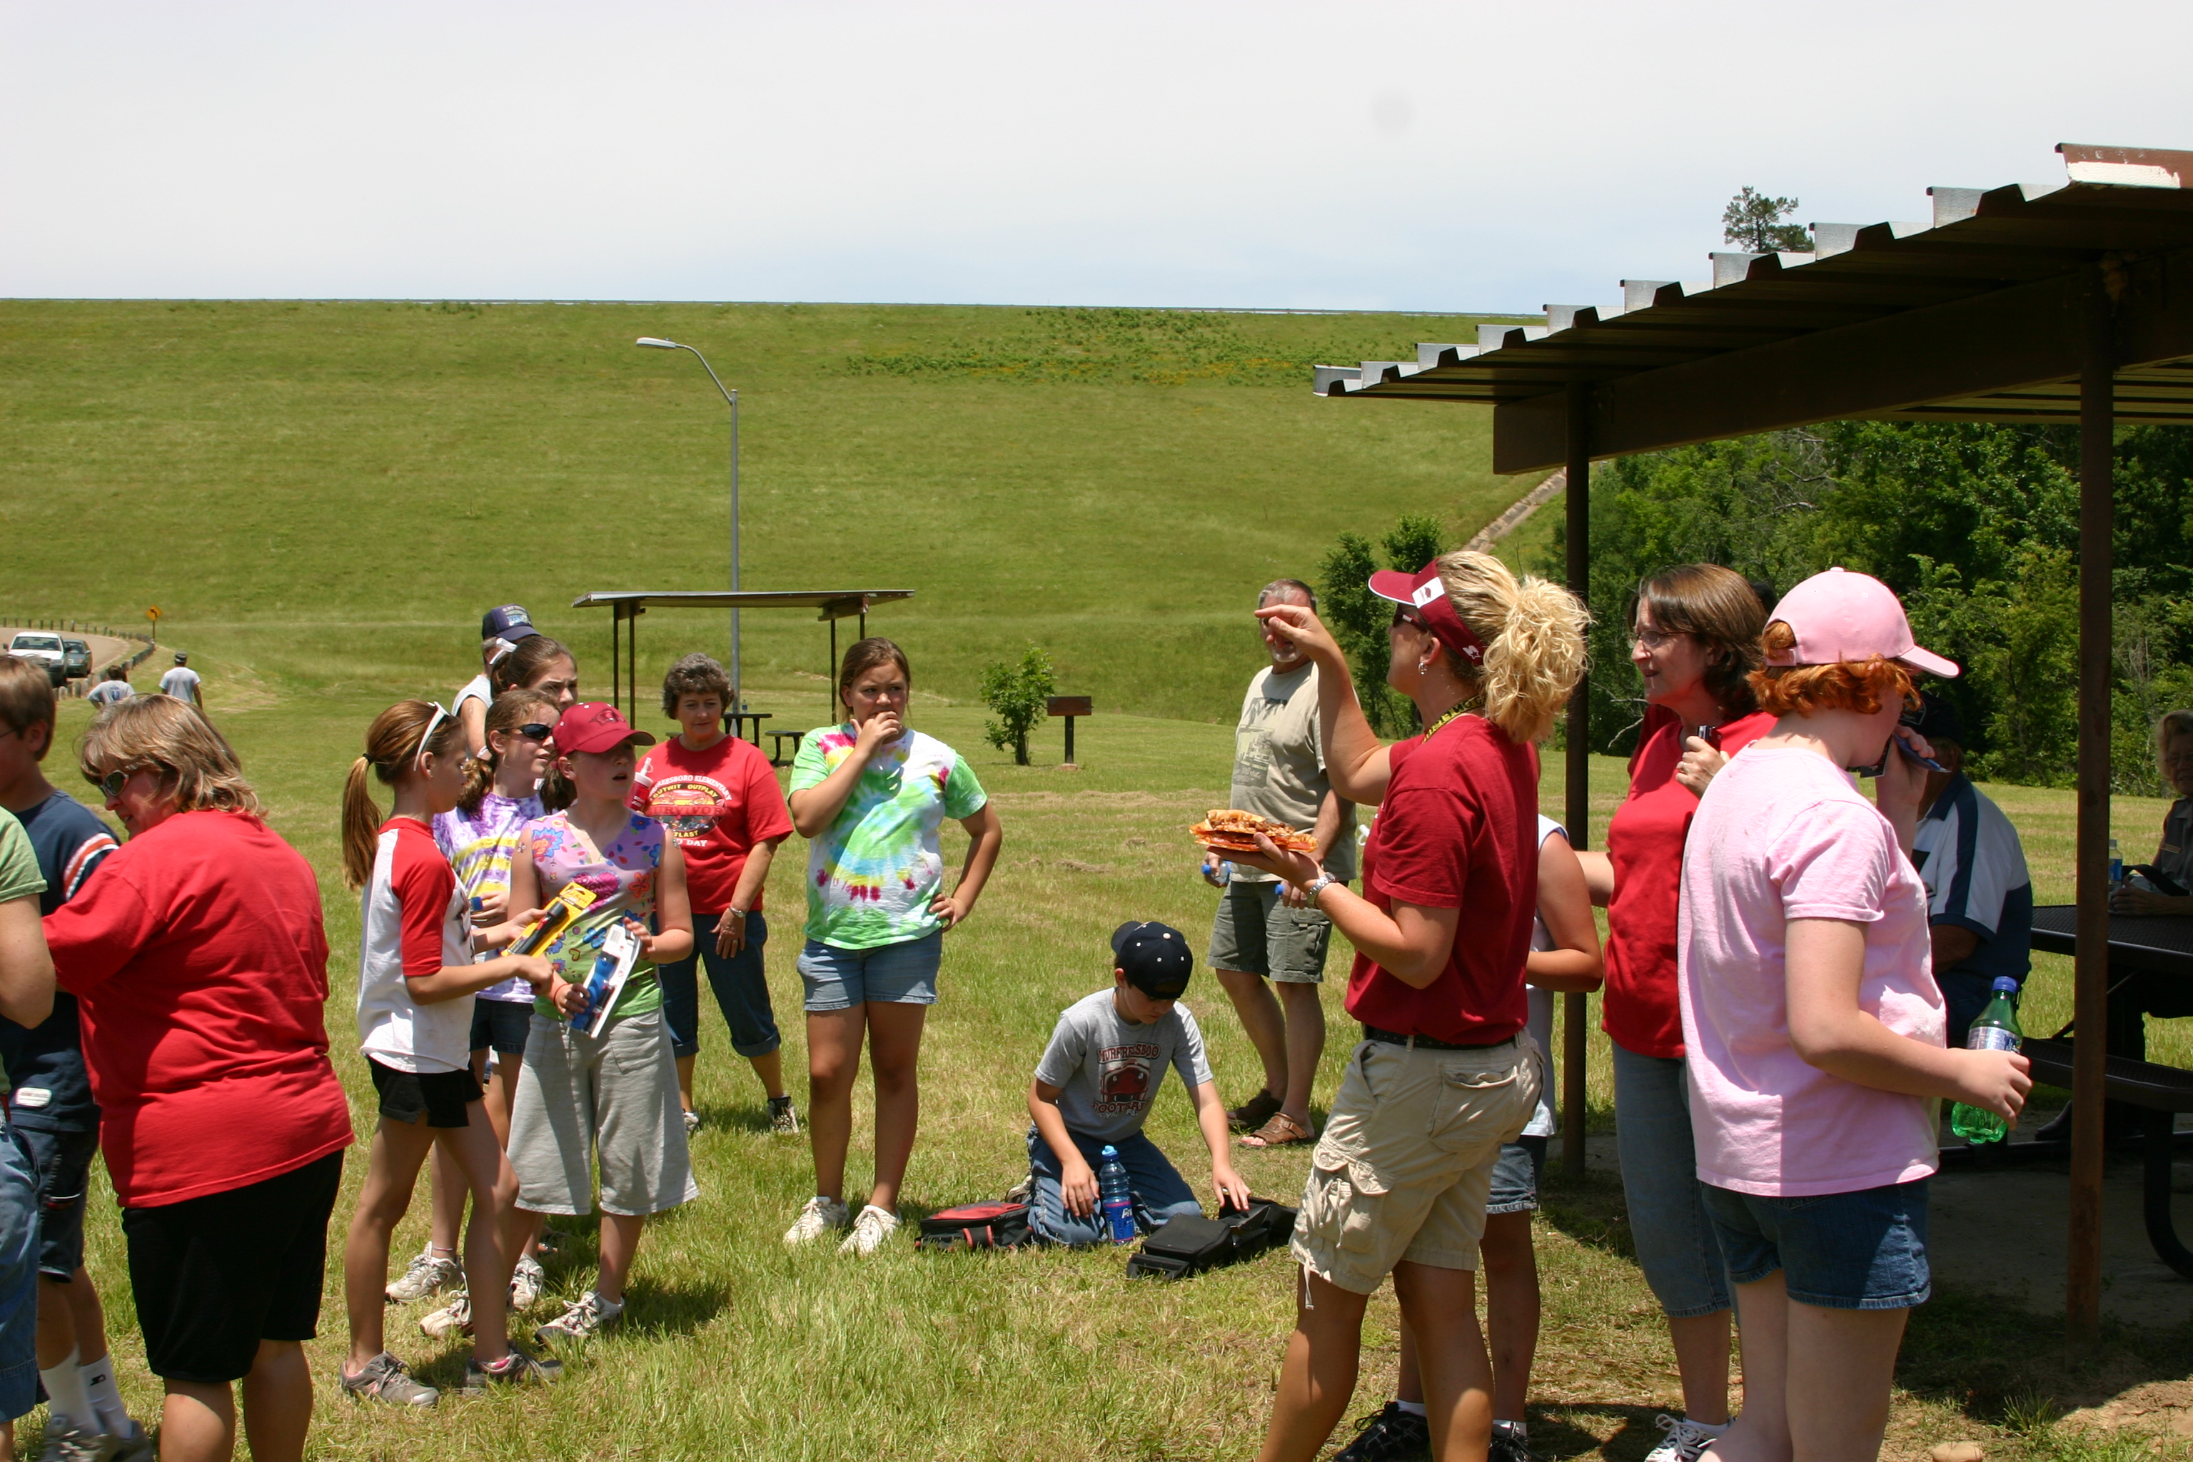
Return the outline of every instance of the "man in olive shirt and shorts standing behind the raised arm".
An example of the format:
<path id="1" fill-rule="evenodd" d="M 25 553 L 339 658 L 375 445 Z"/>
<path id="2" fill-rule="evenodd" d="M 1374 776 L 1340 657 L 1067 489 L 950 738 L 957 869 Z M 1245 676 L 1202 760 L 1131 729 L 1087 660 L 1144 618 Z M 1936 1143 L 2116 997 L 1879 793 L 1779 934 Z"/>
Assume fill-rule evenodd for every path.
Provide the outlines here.
<path id="1" fill-rule="evenodd" d="M 1265 605 L 1318 607 L 1300 579 L 1276 579 L 1257 594 Z M 1272 664 L 1257 671 L 1235 728 L 1232 807 L 1309 829 L 1318 861 L 1340 881 L 1355 877 L 1355 807 L 1333 793 L 1318 743 L 1318 666 L 1270 620 L 1257 620 Z M 1309 1142 L 1309 1083 L 1325 1054 L 1325 947 L 1333 925 L 1268 872 L 1232 866 L 1211 927 L 1211 969 L 1232 1000 L 1257 1056 L 1263 1089 L 1228 1116 L 1250 1131 L 1248 1146 Z M 1270 984 L 1268 984 L 1270 982 Z M 1272 986 L 1279 986 L 1274 1000 Z"/>

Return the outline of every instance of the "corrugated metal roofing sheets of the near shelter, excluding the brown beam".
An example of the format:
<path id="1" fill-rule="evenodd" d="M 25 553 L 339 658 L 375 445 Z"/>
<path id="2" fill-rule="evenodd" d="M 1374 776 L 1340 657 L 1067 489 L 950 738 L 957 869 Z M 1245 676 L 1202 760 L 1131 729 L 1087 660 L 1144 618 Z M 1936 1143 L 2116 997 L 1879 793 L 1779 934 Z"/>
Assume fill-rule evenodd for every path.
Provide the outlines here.
<path id="1" fill-rule="evenodd" d="M 1811 224 L 1809 254 L 1715 252 L 1711 278 L 1625 278 L 1621 305 L 1548 305 L 1544 324 L 1480 324 L 1474 342 L 1419 344 L 1417 359 L 1318 366 L 1316 390 L 1351 399 L 1513 406 L 1559 397 L 1572 381 L 1621 381 L 1982 296 L 2002 296 L 2007 307 L 2015 302 L 2035 331 L 2055 333 L 2059 292 L 2007 292 L 2090 276 L 2097 263 L 2129 272 L 2145 261 L 2154 274 L 2156 256 L 2193 250 L 2193 189 L 2186 186 L 2193 184 L 2193 153 L 2083 145 L 2059 151 L 2068 173 L 2061 184 L 1930 189 L 1932 219 L 1925 224 Z M 2164 274 L 2171 278 L 2158 276 L 2158 287 L 2175 283 L 2182 270 Z M 2180 316 L 2186 305 L 2193 302 L 2169 302 L 2167 313 Z M 1941 318 L 1952 331 L 1956 320 L 1967 327 L 1978 320 L 1972 311 Z M 2193 342 L 2175 329 L 2132 335 L 2116 373 L 2118 421 L 2193 423 L 2193 355 L 2180 353 L 2193 351 Z M 1954 351 L 1958 342 L 1943 335 L 1941 344 Z M 2151 357 L 2158 349 L 2169 355 Z M 1761 364 L 1770 357 L 1772 351 Z M 1868 410 L 1842 414 L 2077 421 L 2077 362 L 2042 353 L 2031 370 L 2042 375 L 1998 370 L 2002 379 L 1989 379 L 1985 390 L 1908 397 L 1890 390 Z M 1914 390 L 1925 384 L 1919 375 Z M 1531 454 L 1542 456 L 1542 449 L 1524 456 Z M 1522 465 L 1511 460 L 1500 469 L 1520 471 Z"/>

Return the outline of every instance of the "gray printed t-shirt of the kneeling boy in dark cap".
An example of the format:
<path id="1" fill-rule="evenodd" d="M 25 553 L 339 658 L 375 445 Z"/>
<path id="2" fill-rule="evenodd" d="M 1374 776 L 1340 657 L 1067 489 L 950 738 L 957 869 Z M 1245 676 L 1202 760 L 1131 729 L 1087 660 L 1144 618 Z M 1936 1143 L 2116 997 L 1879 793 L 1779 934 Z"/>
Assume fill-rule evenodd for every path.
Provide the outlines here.
<path id="1" fill-rule="evenodd" d="M 1175 1002 L 1162 1019 L 1132 1026 L 1121 1019 L 1112 991 L 1105 989 L 1059 1013 L 1050 1046 L 1035 1063 L 1035 1078 L 1059 1087 L 1066 1131 L 1118 1142 L 1143 1131 L 1167 1065 L 1191 1087 L 1211 1081 L 1204 1032 L 1195 1028 L 1189 1008 Z"/>

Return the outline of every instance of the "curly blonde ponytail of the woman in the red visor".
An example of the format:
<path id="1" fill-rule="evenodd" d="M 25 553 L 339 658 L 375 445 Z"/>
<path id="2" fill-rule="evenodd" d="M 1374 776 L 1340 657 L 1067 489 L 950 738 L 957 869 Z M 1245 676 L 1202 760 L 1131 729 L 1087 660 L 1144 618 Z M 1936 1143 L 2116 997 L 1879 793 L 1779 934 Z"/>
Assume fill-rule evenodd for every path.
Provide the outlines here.
<path id="1" fill-rule="evenodd" d="M 1447 603 L 1485 640 L 1485 719 L 1513 741 L 1542 741 L 1583 679 L 1583 603 L 1546 579 L 1515 579 L 1489 552 L 1439 557 Z M 1463 669 L 1456 662 L 1456 669 Z"/>

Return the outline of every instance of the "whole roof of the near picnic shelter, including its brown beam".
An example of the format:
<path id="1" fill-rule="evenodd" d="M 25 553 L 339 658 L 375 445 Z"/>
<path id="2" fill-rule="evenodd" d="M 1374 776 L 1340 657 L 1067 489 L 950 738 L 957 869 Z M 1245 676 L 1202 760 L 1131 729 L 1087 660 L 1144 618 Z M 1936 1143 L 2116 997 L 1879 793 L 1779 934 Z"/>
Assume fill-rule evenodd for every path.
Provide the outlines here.
<path id="1" fill-rule="evenodd" d="M 1566 460 L 1572 384 L 1594 458 L 1851 416 L 2072 423 L 2101 265 L 2116 419 L 2193 423 L 2193 151 L 2057 151 L 2061 184 L 1928 189 L 1925 224 L 1811 224 L 1809 254 L 1717 252 L 1713 278 L 1625 278 L 1618 307 L 1318 366 L 1316 390 L 1491 403 L 1502 473 Z"/>

